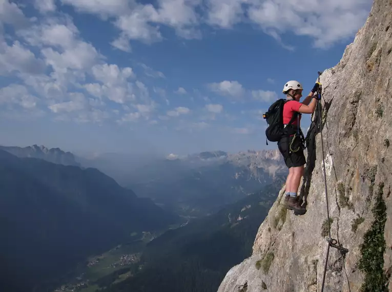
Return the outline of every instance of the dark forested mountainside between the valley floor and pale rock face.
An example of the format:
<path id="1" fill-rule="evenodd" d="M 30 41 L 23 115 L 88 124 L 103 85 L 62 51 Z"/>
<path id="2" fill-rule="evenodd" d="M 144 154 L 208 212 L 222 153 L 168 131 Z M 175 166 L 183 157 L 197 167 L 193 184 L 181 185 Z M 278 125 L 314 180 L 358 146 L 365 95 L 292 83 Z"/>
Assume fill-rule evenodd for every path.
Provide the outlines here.
<path id="1" fill-rule="evenodd" d="M 167 231 L 147 244 L 140 261 L 89 285 L 106 292 L 216 291 L 225 270 L 252 252 L 278 190 L 279 185 L 268 185 L 216 214 Z"/>

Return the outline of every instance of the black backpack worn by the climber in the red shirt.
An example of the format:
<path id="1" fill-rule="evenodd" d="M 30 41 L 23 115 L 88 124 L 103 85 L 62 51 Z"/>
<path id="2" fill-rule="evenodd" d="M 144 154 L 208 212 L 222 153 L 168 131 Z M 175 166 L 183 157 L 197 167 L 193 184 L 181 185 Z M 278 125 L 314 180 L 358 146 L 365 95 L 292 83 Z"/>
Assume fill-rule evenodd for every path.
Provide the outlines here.
<path id="1" fill-rule="evenodd" d="M 269 125 L 267 129 L 265 129 L 265 136 L 267 136 L 267 139 L 271 142 L 277 142 L 284 134 L 287 134 L 283 128 L 283 106 L 287 101 L 289 100 L 283 98 L 278 99 L 270 106 L 268 111 L 263 114 L 263 118 L 266 119 L 267 124 Z M 293 123 L 298 114 L 299 113 L 296 112 L 293 115 L 290 122 L 288 122 L 288 125 Z"/>

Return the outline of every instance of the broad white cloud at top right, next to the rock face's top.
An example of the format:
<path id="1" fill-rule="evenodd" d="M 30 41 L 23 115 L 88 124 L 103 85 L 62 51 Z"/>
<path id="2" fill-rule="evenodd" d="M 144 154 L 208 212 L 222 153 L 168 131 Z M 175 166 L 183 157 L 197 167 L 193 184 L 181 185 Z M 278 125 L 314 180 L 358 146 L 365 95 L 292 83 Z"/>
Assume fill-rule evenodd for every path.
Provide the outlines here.
<path id="1" fill-rule="evenodd" d="M 370 6 L 367 0 L 256 1 L 248 14 L 252 22 L 278 40 L 280 35 L 293 32 L 312 37 L 314 45 L 321 48 L 353 36 L 363 25 Z M 290 44 L 290 40 L 283 43 Z"/>

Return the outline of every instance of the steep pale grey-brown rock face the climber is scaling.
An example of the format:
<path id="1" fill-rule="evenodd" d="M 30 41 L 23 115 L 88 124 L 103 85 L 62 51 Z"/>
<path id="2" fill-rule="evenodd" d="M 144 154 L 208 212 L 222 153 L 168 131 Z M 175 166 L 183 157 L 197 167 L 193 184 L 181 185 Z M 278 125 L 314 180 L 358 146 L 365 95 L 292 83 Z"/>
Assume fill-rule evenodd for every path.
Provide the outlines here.
<path id="1" fill-rule="evenodd" d="M 392 1 L 376 0 L 339 64 L 321 75 L 322 135 L 331 237 L 325 292 L 392 291 Z M 317 121 L 318 112 L 313 119 Z M 327 204 L 321 135 L 308 132 L 300 185 L 305 215 L 280 205 L 262 222 L 252 255 L 218 292 L 321 291 Z"/>

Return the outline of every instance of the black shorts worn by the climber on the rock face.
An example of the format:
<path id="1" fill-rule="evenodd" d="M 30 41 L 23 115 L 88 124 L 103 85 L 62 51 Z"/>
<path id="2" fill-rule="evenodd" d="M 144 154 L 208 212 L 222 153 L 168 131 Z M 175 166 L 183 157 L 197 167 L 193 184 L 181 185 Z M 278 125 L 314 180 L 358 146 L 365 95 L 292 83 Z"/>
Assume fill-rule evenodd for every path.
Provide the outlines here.
<path id="1" fill-rule="evenodd" d="M 294 136 L 290 137 L 282 137 L 280 141 L 278 141 L 278 148 L 280 153 L 283 155 L 284 158 L 284 163 L 286 163 L 286 166 L 290 168 L 295 168 L 297 166 L 301 166 L 306 164 L 306 159 L 305 155 L 303 154 L 303 149 L 302 149 L 302 141 L 300 137 L 297 137 L 292 144 L 292 149 L 297 149 L 300 147 L 300 149 L 297 152 L 292 152 L 290 151 L 290 143 L 292 142 Z"/>

